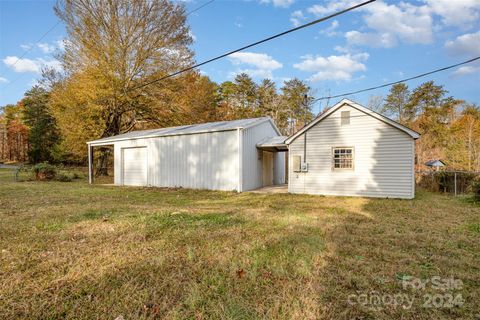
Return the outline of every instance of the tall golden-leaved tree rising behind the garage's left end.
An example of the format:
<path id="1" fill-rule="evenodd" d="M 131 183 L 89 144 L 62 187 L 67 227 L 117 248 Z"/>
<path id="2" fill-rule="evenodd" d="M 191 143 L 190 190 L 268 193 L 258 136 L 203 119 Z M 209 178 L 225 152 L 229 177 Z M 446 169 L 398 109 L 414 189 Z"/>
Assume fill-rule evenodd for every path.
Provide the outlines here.
<path id="1" fill-rule="evenodd" d="M 161 123 L 157 86 L 142 86 L 192 63 L 184 6 L 168 0 L 63 0 L 55 12 L 67 39 L 65 78 L 54 88 L 51 105 L 73 155 L 84 158 L 89 139 L 128 132 L 138 122 Z M 106 159 L 99 159 L 100 173 Z"/>

